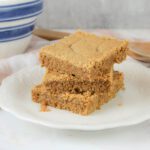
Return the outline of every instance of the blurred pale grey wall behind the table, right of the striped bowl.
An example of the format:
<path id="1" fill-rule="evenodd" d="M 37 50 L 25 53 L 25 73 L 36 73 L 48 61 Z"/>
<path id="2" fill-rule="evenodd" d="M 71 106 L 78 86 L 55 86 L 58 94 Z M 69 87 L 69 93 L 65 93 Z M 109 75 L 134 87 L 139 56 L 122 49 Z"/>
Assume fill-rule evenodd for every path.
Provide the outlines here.
<path id="1" fill-rule="evenodd" d="M 150 0 L 44 0 L 38 26 L 47 29 L 147 29 Z"/>

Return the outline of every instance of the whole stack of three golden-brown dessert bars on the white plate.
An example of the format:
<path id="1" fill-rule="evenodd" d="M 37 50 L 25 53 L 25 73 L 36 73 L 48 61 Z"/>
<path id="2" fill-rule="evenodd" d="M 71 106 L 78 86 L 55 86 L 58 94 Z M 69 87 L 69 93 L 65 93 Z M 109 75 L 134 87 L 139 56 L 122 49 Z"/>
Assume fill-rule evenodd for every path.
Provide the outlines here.
<path id="1" fill-rule="evenodd" d="M 124 87 L 115 63 L 126 58 L 127 41 L 77 31 L 40 51 L 46 73 L 32 90 L 34 102 L 88 115 Z"/>

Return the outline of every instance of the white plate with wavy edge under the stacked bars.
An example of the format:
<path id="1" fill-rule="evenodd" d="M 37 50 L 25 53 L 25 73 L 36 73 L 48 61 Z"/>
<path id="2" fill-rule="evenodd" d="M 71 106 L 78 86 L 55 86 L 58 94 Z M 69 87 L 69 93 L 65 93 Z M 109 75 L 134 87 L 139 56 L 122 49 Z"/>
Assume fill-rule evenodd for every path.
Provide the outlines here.
<path id="1" fill-rule="evenodd" d="M 148 120 L 150 70 L 130 60 L 115 68 L 125 73 L 126 90 L 89 116 L 55 108 L 50 108 L 50 112 L 40 112 L 39 104 L 31 100 L 31 88 L 40 83 L 44 73 L 39 66 L 23 69 L 3 81 L 0 107 L 23 120 L 59 129 L 101 130 Z"/>

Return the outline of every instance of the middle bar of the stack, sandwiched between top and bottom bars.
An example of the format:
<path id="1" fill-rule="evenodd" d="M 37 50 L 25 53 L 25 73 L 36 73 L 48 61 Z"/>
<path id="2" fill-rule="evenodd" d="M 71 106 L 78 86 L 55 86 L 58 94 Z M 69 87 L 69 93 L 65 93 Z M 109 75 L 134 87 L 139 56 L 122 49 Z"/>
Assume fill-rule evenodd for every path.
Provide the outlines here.
<path id="1" fill-rule="evenodd" d="M 78 79 L 68 74 L 49 72 L 48 70 L 43 77 L 45 88 L 52 94 L 65 92 L 76 94 L 86 91 L 91 93 L 108 92 L 112 86 L 112 81 L 113 69 L 110 70 L 110 77 L 108 79 L 100 78 L 93 81 Z"/>

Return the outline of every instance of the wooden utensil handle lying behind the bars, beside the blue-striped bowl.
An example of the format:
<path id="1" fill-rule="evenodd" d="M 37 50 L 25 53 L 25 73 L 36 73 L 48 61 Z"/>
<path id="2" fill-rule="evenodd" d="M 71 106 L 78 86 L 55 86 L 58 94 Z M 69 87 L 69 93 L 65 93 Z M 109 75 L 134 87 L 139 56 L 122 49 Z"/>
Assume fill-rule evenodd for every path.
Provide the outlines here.
<path id="1" fill-rule="evenodd" d="M 69 33 L 66 32 L 59 32 L 54 30 L 42 29 L 42 28 L 34 29 L 33 34 L 50 41 L 58 40 L 69 35 Z"/>

